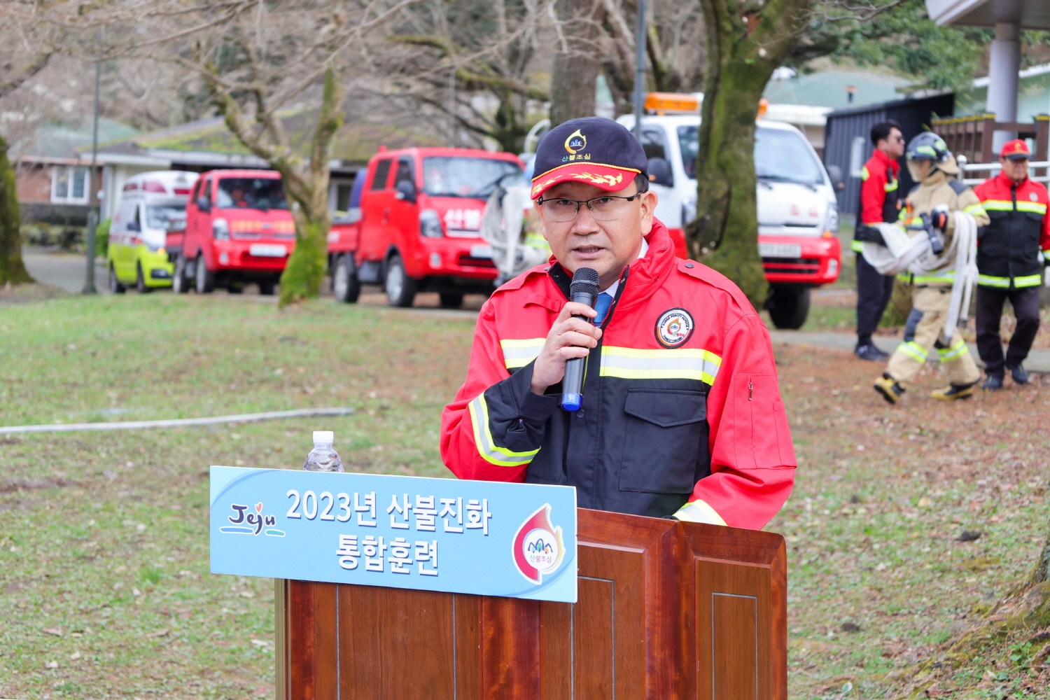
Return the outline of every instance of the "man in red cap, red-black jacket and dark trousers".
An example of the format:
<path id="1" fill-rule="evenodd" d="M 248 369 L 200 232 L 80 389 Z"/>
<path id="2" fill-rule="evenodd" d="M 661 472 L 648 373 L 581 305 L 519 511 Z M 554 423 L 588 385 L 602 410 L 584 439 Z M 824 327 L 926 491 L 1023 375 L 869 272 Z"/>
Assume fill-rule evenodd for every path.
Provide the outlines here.
<path id="1" fill-rule="evenodd" d="M 985 390 L 1003 388 L 1004 365 L 1014 382 L 1028 382 L 1021 363 L 1040 330 L 1040 284 L 1050 262 L 1050 197 L 1046 187 L 1028 178 L 1030 157 L 1024 141 L 1007 142 L 999 158 L 1003 170 L 974 190 L 991 219 L 978 241 L 978 352 L 988 376 Z M 1004 362 L 999 324 L 1007 299 L 1017 327 Z"/>

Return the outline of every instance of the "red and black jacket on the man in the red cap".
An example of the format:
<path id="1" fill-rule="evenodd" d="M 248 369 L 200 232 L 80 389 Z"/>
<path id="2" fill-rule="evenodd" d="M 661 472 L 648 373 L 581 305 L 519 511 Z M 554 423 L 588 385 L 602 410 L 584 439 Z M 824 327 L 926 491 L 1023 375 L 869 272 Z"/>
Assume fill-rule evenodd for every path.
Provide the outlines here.
<path id="1" fill-rule="evenodd" d="M 1020 289 L 1043 283 L 1050 259 L 1047 188 L 1030 178 L 1014 183 L 1002 172 L 973 188 L 991 224 L 978 239 L 978 284 Z"/>

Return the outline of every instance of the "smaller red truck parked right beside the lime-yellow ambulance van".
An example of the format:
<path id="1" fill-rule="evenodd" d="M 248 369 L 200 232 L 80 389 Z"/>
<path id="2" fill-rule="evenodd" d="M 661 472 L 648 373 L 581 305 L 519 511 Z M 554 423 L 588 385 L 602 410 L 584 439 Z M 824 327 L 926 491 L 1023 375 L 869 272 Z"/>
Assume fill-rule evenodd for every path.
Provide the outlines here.
<path id="1" fill-rule="evenodd" d="M 295 224 L 280 174 L 273 170 L 203 173 L 186 205 L 186 234 L 175 259 L 173 288 L 198 294 L 216 287 L 231 294 L 246 283 L 273 294 L 295 248 Z"/>

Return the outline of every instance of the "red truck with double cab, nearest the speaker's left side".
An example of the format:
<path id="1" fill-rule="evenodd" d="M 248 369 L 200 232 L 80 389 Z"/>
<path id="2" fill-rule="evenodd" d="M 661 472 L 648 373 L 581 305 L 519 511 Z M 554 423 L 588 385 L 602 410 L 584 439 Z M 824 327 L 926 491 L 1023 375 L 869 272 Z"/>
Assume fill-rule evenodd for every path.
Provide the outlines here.
<path id="1" fill-rule="evenodd" d="M 381 150 L 357 174 L 350 211 L 329 234 L 336 297 L 356 301 L 360 284 L 382 284 L 392 306 L 438 292 L 455 307 L 464 294 L 490 294 L 497 269 L 481 238 L 482 213 L 496 187 L 522 173 L 511 153 Z"/>

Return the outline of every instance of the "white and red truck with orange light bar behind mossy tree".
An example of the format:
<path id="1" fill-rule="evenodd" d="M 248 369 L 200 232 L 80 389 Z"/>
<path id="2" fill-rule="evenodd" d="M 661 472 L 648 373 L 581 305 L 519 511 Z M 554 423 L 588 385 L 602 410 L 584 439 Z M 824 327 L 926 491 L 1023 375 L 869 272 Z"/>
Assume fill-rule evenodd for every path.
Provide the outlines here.
<path id="1" fill-rule="evenodd" d="M 662 97 L 651 93 L 647 107 L 659 110 Z M 699 101 L 675 98 L 676 105 L 691 98 L 696 111 L 644 116 L 642 145 L 650 158 L 652 189 L 659 195 L 656 217 L 671 230 L 678 256 L 688 257 L 682 229 L 696 216 Z M 633 114 L 616 121 L 634 129 Z M 766 307 L 777 327 L 798 328 L 808 315 L 810 290 L 834 282 L 841 269 L 834 185 L 813 146 L 790 124 L 759 119 L 754 155 L 758 252 L 771 289 Z"/>

